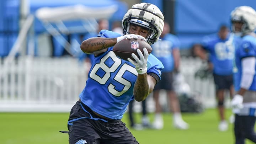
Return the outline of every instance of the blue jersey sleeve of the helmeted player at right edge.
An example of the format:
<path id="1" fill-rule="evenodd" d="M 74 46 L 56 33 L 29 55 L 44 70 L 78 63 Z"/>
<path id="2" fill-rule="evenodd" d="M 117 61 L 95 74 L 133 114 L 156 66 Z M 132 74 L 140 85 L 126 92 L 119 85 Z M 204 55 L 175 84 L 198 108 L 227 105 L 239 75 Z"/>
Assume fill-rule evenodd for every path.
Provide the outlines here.
<path id="1" fill-rule="evenodd" d="M 256 57 L 256 49 L 250 41 L 242 42 L 238 50 L 240 59 L 246 57 Z"/>

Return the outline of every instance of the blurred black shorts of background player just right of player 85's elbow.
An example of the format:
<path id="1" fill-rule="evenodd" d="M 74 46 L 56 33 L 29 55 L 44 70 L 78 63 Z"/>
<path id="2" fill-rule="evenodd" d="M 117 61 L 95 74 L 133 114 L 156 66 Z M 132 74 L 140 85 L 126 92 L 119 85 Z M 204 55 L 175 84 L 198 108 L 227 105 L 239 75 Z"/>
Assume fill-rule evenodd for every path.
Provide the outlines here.
<path id="1" fill-rule="evenodd" d="M 161 90 L 161 89 L 173 90 L 172 82 L 173 82 L 172 72 L 162 73 L 161 80 L 155 85 L 154 90 Z"/>

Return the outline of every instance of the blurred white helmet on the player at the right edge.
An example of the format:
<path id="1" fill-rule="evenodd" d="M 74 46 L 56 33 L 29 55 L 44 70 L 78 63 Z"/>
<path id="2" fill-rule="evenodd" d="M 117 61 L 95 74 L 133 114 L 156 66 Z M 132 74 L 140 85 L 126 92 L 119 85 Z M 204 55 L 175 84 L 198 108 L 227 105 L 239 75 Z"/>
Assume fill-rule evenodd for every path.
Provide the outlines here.
<path id="1" fill-rule="evenodd" d="M 240 32 L 235 31 L 233 22 L 242 22 Z M 231 12 L 232 31 L 245 35 L 255 31 L 256 28 L 256 12 L 250 6 L 239 6 Z"/>

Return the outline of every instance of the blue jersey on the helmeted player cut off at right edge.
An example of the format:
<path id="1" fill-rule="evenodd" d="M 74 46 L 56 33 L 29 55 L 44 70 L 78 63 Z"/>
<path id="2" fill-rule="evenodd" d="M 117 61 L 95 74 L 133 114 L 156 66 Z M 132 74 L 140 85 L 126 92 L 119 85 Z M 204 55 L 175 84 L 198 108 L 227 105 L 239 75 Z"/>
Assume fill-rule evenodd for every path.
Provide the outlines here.
<path id="1" fill-rule="evenodd" d="M 235 91 L 240 89 L 240 82 L 242 76 L 241 59 L 246 57 L 256 57 L 256 38 L 250 35 L 242 38 L 241 44 L 235 53 L 235 67 L 237 69 L 235 76 Z M 256 68 L 256 67 L 255 67 Z M 256 91 L 256 75 L 249 88 L 251 91 Z"/>

